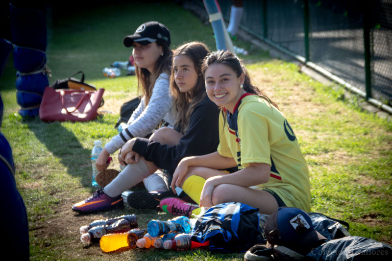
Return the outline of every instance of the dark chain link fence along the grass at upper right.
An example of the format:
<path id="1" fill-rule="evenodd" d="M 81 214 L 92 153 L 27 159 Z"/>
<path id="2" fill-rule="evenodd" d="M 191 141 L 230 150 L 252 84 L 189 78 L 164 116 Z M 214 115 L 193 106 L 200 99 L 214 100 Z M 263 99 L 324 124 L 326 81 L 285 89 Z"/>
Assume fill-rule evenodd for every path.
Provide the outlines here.
<path id="1" fill-rule="evenodd" d="M 244 0 L 240 28 L 392 105 L 392 0 Z"/>

